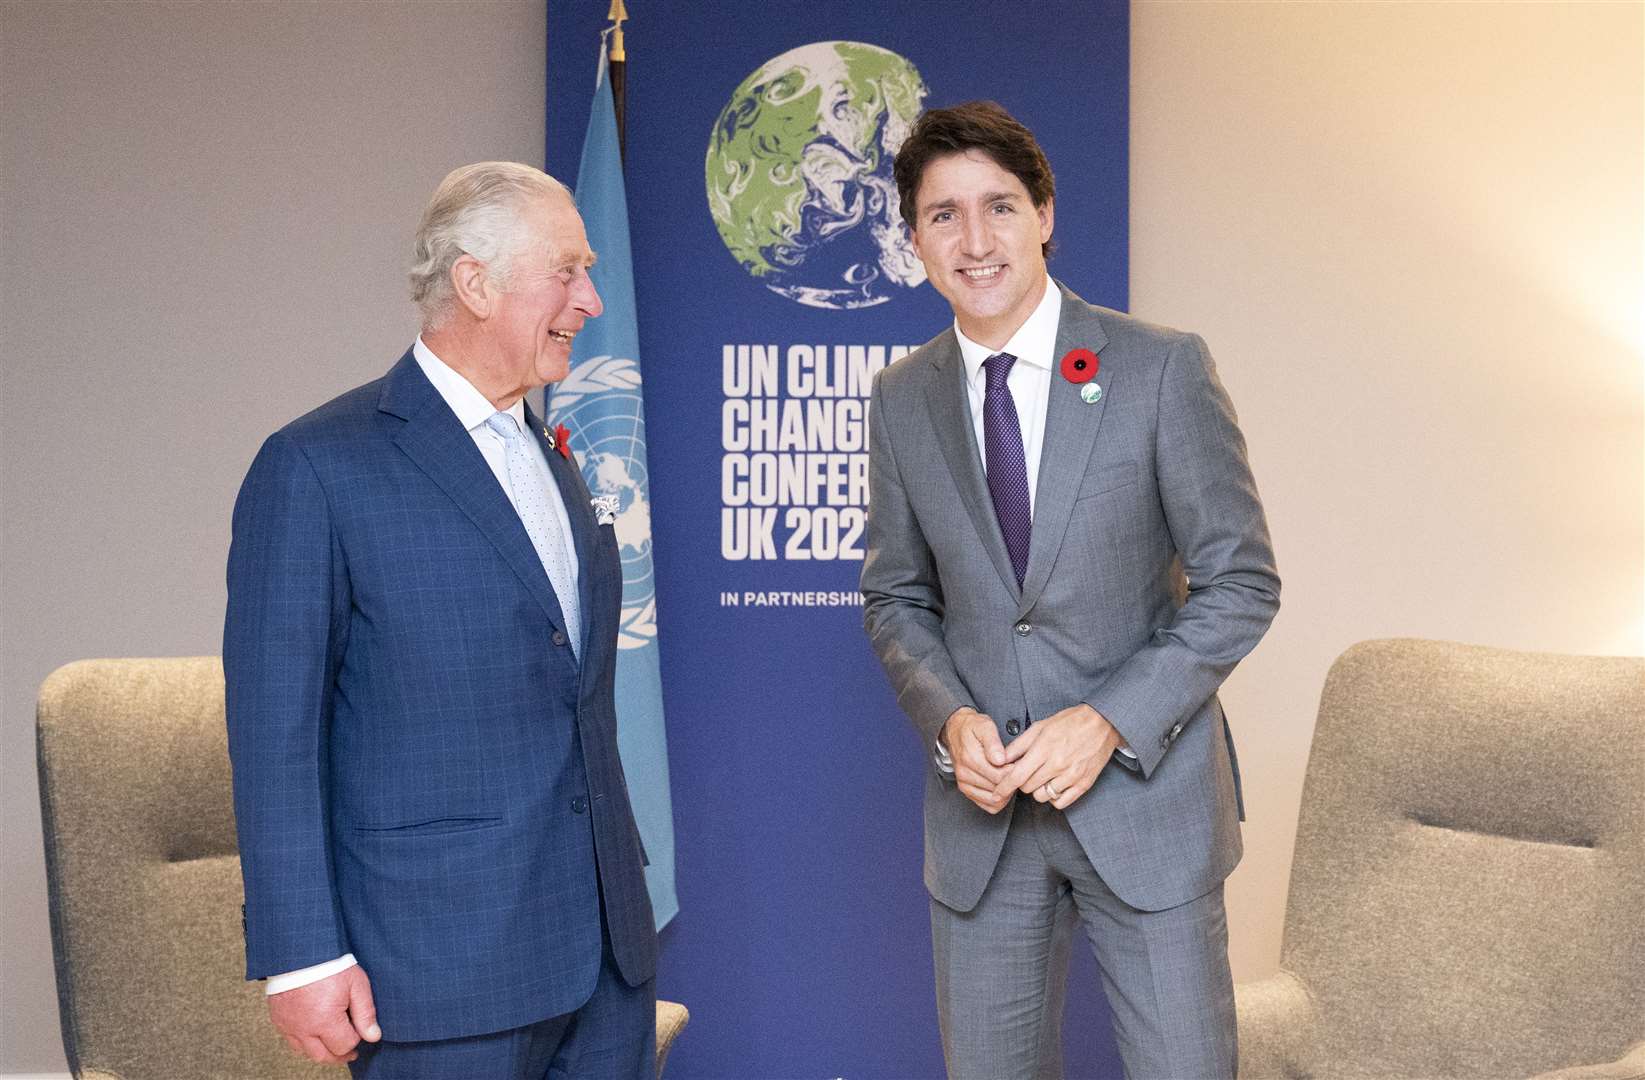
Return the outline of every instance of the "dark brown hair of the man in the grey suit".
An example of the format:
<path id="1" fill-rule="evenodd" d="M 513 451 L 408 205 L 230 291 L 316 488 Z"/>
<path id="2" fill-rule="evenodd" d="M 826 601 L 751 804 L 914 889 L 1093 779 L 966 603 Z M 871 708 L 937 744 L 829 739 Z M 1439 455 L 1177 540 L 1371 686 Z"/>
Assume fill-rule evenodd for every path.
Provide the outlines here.
<path id="1" fill-rule="evenodd" d="M 949 108 L 929 108 L 915 120 L 897 161 L 897 197 L 901 201 L 903 220 L 915 228 L 915 196 L 926 166 L 948 155 L 980 150 L 995 164 L 1015 176 L 1028 189 L 1035 207 L 1043 207 L 1056 196 L 1056 178 L 1051 163 L 1035 140 L 1033 132 L 1018 123 L 999 102 L 964 102 Z M 1051 243 L 1040 245 L 1050 255 Z"/>

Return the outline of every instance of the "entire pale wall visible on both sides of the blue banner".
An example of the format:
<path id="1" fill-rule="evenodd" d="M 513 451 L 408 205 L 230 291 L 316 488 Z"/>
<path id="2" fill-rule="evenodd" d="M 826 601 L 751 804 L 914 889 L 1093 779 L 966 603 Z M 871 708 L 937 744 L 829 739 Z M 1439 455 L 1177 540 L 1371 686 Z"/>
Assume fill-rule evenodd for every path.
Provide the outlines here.
<path id="1" fill-rule="evenodd" d="M 1133 309 L 1211 342 L 1285 577 L 1227 692 L 1240 978 L 1344 646 L 1642 649 L 1642 12 L 1133 8 Z M 245 464 L 403 348 L 439 176 L 541 159 L 543 33 L 536 0 L 0 3 L 0 1073 L 63 1068 L 39 681 L 217 651 Z"/>

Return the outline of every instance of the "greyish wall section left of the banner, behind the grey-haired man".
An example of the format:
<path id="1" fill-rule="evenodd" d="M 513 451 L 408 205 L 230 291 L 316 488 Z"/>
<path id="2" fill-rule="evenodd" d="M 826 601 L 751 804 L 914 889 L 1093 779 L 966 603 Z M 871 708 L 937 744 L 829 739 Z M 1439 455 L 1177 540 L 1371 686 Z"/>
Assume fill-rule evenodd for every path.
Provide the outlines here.
<path id="1" fill-rule="evenodd" d="M 263 437 L 382 375 L 439 178 L 543 159 L 541 0 L 0 7 L 0 1073 L 64 1068 L 33 700 L 212 654 Z"/>

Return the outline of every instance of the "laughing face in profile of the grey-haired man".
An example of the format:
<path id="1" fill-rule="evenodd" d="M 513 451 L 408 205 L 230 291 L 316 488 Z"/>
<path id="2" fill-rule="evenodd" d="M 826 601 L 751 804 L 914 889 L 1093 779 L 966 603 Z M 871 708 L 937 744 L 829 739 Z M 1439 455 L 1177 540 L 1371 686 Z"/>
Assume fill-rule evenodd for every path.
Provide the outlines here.
<path id="1" fill-rule="evenodd" d="M 571 373 L 571 340 L 584 321 L 604 311 L 589 266 L 594 252 L 582 217 L 561 194 L 531 204 L 521 222 L 530 232 L 515 255 L 508 286 L 497 289 L 485 321 L 492 339 L 495 390 L 518 399 Z M 492 395 L 487 395 L 492 396 Z"/>

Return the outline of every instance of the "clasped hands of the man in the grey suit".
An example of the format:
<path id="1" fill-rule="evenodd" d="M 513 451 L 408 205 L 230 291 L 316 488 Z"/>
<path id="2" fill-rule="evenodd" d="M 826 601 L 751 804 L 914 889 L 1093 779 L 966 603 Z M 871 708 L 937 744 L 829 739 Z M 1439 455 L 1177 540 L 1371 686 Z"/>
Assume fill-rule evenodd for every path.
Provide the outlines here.
<path id="1" fill-rule="evenodd" d="M 999 814 L 1018 791 L 1066 810 L 1091 791 L 1125 740 L 1101 712 L 1081 702 L 1031 723 L 1008 746 L 1000 743 L 992 717 L 959 708 L 943 725 L 943 743 L 954 758 L 961 794 Z"/>

